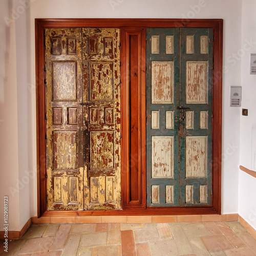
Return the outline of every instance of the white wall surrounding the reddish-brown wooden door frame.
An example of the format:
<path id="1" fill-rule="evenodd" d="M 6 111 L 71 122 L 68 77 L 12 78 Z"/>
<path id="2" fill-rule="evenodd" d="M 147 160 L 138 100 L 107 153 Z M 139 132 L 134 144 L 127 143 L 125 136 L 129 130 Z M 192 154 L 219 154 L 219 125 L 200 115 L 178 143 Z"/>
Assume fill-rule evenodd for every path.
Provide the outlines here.
<path id="1" fill-rule="evenodd" d="M 14 1 L 16 3 L 15 10 L 21 10 L 20 1 L 25 0 Z M 238 59 L 234 63 L 232 54 L 237 53 L 241 48 L 242 0 L 26 0 L 25 2 L 29 1 L 31 5 L 19 15 L 15 23 L 17 82 L 15 83 L 16 91 L 13 89 L 13 92 L 17 95 L 17 101 L 13 98 L 11 102 L 17 104 L 16 117 L 13 116 L 18 133 L 18 138 L 15 140 L 16 155 L 14 160 L 12 160 L 11 154 L 6 154 L 3 159 L 6 166 L 12 163 L 12 168 L 19 174 L 19 180 L 24 179 L 27 170 L 31 170 L 31 175 L 27 176 L 33 177 L 36 165 L 34 18 L 112 17 L 184 18 L 184 20 L 188 18 L 223 18 L 223 58 L 226 67 L 223 76 L 222 212 L 224 214 L 237 213 L 241 109 L 229 107 L 229 86 L 241 85 L 241 60 Z M 11 73 L 8 73 L 8 76 L 11 76 Z M 4 119 L 2 113 L 0 119 Z M 7 134 L 12 137 L 10 132 Z M 1 150 L 6 146 L 9 145 L 2 143 Z M 7 175 L 2 182 L 5 183 L 10 178 L 11 176 Z M 15 181 L 12 181 L 12 184 L 14 183 Z M 4 190 L 1 187 L 0 191 L 2 193 L 2 191 L 6 191 L 6 188 Z M 19 204 L 12 203 L 16 212 L 19 212 L 20 219 L 18 226 L 17 224 L 12 225 L 13 230 L 20 229 L 31 216 L 37 215 L 36 193 L 36 177 L 34 176 L 29 178 L 29 183 L 24 184 L 24 188 L 20 189 Z"/>

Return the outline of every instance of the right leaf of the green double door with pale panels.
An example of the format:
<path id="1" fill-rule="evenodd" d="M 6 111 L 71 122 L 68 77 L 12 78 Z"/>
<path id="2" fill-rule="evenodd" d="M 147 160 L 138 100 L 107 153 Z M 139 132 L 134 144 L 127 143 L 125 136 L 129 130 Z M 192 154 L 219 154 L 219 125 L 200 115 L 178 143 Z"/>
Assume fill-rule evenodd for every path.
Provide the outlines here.
<path id="1" fill-rule="evenodd" d="M 180 57 L 180 205 L 211 205 L 212 30 L 181 28 Z"/>

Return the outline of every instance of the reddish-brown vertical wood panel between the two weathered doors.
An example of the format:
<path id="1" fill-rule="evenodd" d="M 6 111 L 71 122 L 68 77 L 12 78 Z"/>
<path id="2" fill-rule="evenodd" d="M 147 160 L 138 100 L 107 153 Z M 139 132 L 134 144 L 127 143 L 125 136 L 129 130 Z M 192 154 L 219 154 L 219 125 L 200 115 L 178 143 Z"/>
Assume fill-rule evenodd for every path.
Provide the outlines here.
<path id="1" fill-rule="evenodd" d="M 145 29 L 123 29 L 122 207 L 145 208 Z"/>

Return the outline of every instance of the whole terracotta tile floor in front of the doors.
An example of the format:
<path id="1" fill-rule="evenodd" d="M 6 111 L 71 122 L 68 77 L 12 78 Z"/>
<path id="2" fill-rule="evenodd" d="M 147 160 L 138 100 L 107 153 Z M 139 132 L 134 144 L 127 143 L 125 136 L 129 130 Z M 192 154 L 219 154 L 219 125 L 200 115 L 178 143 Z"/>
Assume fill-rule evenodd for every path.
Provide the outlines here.
<path id="1" fill-rule="evenodd" d="M 32 224 L 0 255 L 256 255 L 256 240 L 237 221 Z"/>

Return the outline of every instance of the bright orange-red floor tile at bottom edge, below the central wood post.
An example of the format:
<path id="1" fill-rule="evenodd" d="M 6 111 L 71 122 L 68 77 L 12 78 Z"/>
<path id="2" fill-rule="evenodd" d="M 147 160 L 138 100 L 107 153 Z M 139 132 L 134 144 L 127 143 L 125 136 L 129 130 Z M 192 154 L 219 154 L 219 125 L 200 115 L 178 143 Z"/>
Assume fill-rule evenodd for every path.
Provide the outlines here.
<path id="1" fill-rule="evenodd" d="M 122 256 L 136 256 L 133 230 L 121 231 Z"/>

